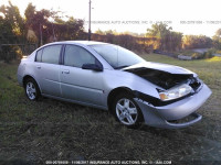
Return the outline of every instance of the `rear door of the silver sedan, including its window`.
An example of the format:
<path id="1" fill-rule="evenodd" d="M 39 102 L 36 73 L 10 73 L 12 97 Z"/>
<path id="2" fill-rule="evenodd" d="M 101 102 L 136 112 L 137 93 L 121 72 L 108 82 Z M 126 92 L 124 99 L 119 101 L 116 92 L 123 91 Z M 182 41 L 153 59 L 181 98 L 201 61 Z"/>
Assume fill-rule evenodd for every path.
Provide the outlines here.
<path id="1" fill-rule="evenodd" d="M 60 56 L 62 45 L 50 45 L 36 52 L 35 75 L 42 94 L 61 97 Z"/>

